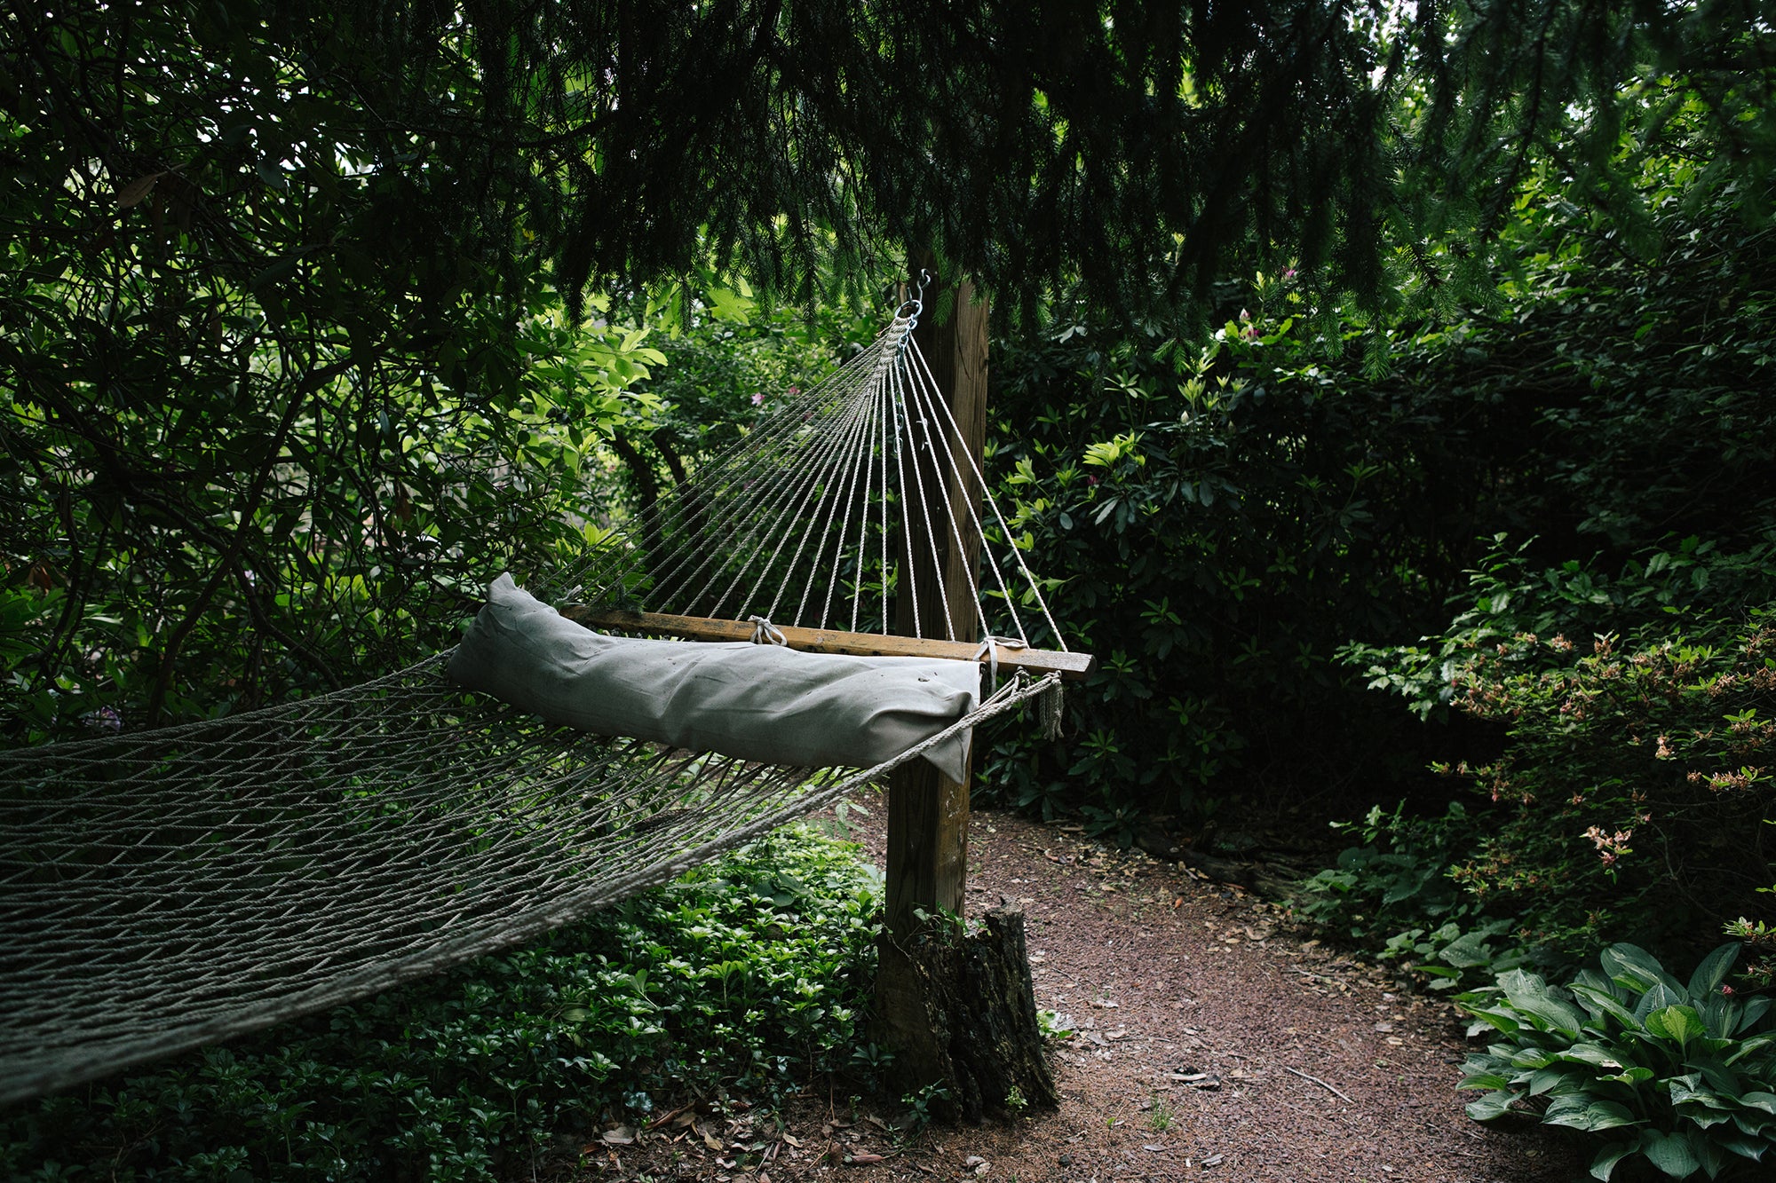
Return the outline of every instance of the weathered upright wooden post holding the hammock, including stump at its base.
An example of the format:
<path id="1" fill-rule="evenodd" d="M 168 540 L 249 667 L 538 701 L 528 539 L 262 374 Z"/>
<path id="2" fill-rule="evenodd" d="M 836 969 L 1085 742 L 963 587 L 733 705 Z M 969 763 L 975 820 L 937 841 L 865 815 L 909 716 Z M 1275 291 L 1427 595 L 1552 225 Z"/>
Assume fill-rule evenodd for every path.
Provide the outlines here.
<path id="1" fill-rule="evenodd" d="M 936 270 L 929 258 L 920 263 Z M 984 471 L 989 309 L 975 300 L 973 284 L 959 279 L 952 311 L 938 323 L 948 282 L 938 275 L 927 286 L 915 341 L 955 423 L 954 430 L 932 425 L 932 437 L 948 444 L 957 464 L 929 464 L 929 453 L 913 448 L 927 462 L 922 481 L 908 481 L 900 492 L 908 510 L 895 631 L 911 634 L 916 620 L 925 636 L 977 641 L 975 517 L 984 490 L 975 472 Z M 1051 1107 L 1058 1098 L 1035 1025 L 1023 915 L 989 913 L 986 929 L 964 941 L 940 917 L 963 915 L 966 886 L 968 771 L 955 782 L 927 760 L 902 764 L 888 782 L 888 933 L 876 979 L 877 1034 L 895 1055 L 892 1082 L 902 1092 L 943 1085 L 948 1110 L 970 1121 L 1014 1098 Z"/>

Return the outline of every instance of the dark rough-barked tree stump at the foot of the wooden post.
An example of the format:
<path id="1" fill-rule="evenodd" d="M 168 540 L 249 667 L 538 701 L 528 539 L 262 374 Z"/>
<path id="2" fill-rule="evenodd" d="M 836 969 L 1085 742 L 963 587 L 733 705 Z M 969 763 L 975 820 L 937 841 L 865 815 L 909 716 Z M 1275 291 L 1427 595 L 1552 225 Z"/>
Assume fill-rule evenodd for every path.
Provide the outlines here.
<path id="1" fill-rule="evenodd" d="M 877 1021 L 895 1034 L 890 1080 L 902 1094 L 938 1084 L 938 1117 L 979 1123 L 1025 1105 L 1055 1108 L 1035 1021 L 1035 988 L 1023 936 L 1023 911 L 995 908 L 979 933 L 948 920 L 897 940 L 881 938 Z"/>

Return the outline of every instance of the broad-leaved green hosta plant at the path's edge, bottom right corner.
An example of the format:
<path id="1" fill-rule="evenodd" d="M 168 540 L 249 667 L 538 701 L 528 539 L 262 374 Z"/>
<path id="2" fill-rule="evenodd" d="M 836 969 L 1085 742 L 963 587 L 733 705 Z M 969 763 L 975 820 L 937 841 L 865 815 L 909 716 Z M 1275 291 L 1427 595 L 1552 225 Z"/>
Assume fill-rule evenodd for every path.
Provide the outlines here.
<path id="1" fill-rule="evenodd" d="M 1645 1160 L 1673 1179 L 1769 1178 L 1776 1155 L 1776 1034 L 1767 996 L 1724 986 L 1739 945 L 1678 982 L 1636 945 L 1565 989 L 1511 970 L 1462 995 L 1471 1034 L 1499 1041 L 1467 1059 L 1471 1117 L 1540 1116 L 1602 1139 L 1591 1174 Z M 1756 1165 L 1764 1163 L 1764 1165 Z"/>

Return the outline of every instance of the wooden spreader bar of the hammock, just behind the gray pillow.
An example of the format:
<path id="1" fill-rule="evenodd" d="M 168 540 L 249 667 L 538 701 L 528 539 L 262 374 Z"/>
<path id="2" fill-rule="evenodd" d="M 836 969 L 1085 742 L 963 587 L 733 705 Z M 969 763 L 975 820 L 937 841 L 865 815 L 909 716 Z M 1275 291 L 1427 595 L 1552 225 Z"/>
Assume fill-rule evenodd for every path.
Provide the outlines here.
<path id="1" fill-rule="evenodd" d="M 588 607 L 574 604 L 561 609 L 561 615 L 588 629 L 613 632 L 650 632 L 657 636 L 682 636 L 691 641 L 749 641 L 753 625 L 744 620 L 712 620 L 709 616 L 668 616 L 664 613 L 632 613 L 611 607 Z M 835 632 L 833 629 L 799 629 L 796 625 L 774 625 L 783 634 L 789 648 L 805 654 L 851 654 L 852 657 L 943 657 L 947 661 L 980 661 L 975 657 L 979 645 L 968 641 L 934 641 L 916 636 L 881 636 L 876 632 Z M 1053 648 L 1011 648 L 998 647 L 1000 670 L 1028 670 L 1041 677 L 1058 673 L 1067 682 L 1078 682 L 1098 668 L 1098 659 L 1090 654 L 1067 654 Z"/>

